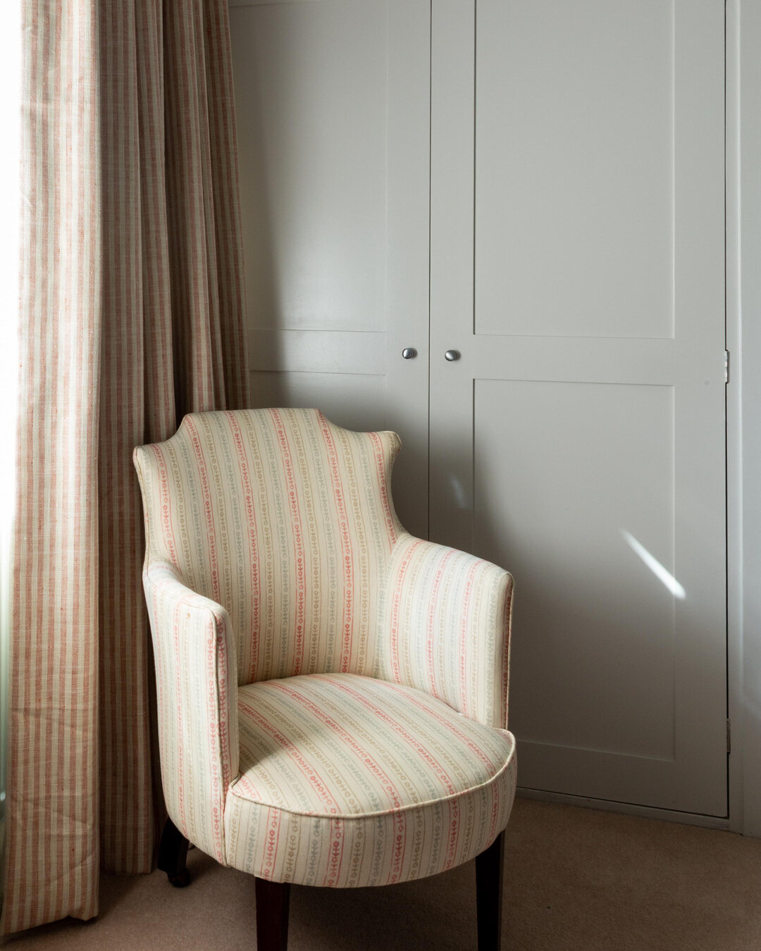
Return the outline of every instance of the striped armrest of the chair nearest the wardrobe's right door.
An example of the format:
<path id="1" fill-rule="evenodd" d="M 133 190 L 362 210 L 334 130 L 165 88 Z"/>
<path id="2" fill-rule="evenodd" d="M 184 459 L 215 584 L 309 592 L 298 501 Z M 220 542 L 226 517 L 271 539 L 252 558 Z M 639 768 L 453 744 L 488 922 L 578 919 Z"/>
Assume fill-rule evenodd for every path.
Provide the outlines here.
<path id="1" fill-rule="evenodd" d="M 507 727 L 513 578 L 488 561 L 403 534 L 391 553 L 380 675 Z"/>

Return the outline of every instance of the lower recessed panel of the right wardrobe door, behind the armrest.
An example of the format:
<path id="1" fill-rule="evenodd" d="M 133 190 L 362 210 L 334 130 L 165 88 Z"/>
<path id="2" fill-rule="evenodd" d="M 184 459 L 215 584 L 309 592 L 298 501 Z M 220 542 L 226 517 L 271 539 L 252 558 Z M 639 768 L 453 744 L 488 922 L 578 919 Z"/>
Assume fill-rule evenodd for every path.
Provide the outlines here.
<path id="1" fill-rule="evenodd" d="M 478 550 L 542 636 L 538 670 L 514 642 L 521 741 L 673 759 L 674 586 L 639 547 L 673 575 L 673 387 L 478 379 L 474 407 Z"/>

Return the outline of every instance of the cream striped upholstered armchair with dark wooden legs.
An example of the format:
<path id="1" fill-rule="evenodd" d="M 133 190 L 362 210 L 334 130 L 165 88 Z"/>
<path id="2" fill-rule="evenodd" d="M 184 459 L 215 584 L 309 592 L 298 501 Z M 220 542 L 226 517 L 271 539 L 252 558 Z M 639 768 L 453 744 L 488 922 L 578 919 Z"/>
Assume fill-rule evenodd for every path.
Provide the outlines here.
<path id="1" fill-rule="evenodd" d="M 256 877 L 260 951 L 289 884 L 405 882 L 477 859 L 496 948 L 512 578 L 404 532 L 400 440 L 317 410 L 190 414 L 134 452 L 169 820 Z"/>

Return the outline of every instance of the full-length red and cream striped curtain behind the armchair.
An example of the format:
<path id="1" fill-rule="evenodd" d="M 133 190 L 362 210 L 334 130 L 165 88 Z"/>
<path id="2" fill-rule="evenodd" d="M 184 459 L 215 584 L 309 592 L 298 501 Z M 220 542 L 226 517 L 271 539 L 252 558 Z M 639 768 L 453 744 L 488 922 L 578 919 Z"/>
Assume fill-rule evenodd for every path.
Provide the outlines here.
<path id="1" fill-rule="evenodd" d="M 146 872 L 132 447 L 246 403 L 226 0 L 24 0 L 18 490 L 0 933 Z"/>

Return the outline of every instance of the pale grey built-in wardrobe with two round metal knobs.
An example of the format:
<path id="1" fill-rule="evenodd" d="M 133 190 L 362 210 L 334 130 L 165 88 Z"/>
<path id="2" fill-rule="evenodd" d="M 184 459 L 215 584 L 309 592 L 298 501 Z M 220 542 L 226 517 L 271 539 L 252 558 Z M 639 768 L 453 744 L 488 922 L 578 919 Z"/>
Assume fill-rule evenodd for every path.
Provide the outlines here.
<path id="1" fill-rule="evenodd" d="M 254 404 L 396 430 L 402 523 L 514 574 L 519 786 L 726 816 L 724 4 L 230 26 Z"/>

